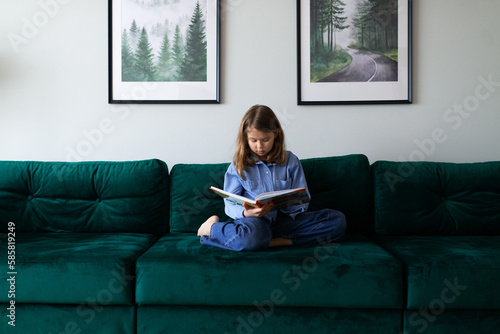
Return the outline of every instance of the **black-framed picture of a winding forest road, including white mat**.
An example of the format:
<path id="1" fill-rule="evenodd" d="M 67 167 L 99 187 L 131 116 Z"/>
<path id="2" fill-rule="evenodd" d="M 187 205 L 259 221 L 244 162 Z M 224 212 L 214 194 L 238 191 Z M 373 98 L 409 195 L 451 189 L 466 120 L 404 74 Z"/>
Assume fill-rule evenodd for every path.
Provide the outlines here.
<path id="1" fill-rule="evenodd" d="M 412 102 L 411 0 L 297 0 L 298 104 Z"/>

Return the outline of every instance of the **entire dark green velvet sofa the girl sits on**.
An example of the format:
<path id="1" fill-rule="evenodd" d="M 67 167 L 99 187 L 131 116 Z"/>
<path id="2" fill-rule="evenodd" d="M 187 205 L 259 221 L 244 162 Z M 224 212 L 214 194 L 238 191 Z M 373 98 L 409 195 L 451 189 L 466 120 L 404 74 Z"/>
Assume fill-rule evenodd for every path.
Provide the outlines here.
<path id="1" fill-rule="evenodd" d="M 0 332 L 496 333 L 500 162 L 302 165 L 345 240 L 231 252 L 227 163 L 0 162 Z"/>

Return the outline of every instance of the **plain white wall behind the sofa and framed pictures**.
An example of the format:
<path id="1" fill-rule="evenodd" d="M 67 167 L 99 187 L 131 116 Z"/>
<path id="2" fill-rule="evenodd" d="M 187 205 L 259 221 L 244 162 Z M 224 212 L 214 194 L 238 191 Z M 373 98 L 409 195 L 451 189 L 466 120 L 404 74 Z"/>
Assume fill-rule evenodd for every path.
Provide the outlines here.
<path id="1" fill-rule="evenodd" d="M 295 0 L 222 0 L 221 104 L 127 108 L 107 103 L 107 1 L 58 0 L 16 52 L 8 36 L 43 23 L 39 1 L 1 0 L 0 160 L 226 162 L 255 103 L 301 158 L 500 160 L 500 0 L 414 0 L 414 103 L 344 106 L 296 103 Z M 453 112 L 464 103 L 470 113 Z"/>

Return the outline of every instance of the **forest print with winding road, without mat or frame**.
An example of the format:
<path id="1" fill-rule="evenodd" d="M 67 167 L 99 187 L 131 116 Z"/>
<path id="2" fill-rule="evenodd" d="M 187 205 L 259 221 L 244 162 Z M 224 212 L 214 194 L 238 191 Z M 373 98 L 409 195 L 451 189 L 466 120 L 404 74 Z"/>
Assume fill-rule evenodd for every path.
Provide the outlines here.
<path id="1" fill-rule="evenodd" d="M 311 0 L 311 82 L 398 81 L 398 0 Z"/>

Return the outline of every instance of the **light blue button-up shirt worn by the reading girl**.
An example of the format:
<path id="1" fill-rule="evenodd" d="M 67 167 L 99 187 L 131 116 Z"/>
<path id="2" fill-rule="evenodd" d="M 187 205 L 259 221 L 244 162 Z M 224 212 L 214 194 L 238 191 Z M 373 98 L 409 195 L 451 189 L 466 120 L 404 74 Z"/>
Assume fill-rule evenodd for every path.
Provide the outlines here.
<path id="1" fill-rule="evenodd" d="M 299 159 L 292 152 L 287 151 L 285 164 L 276 163 L 264 164 L 257 160 L 254 166 L 250 166 L 249 171 L 243 171 L 244 178 L 241 178 L 236 168 L 231 164 L 224 178 L 224 190 L 230 193 L 255 199 L 258 195 L 285 189 L 307 188 L 306 178 Z M 233 218 L 242 218 L 244 208 L 241 205 L 225 201 L 226 214 Z M 305 212 L 309 204 L 294 205 L 280 210 L 281 212 L 294 218 L 297 214 Z M 267 219 L 274 220 L 277 211 L 273 210 L 266 216 Z"/>

